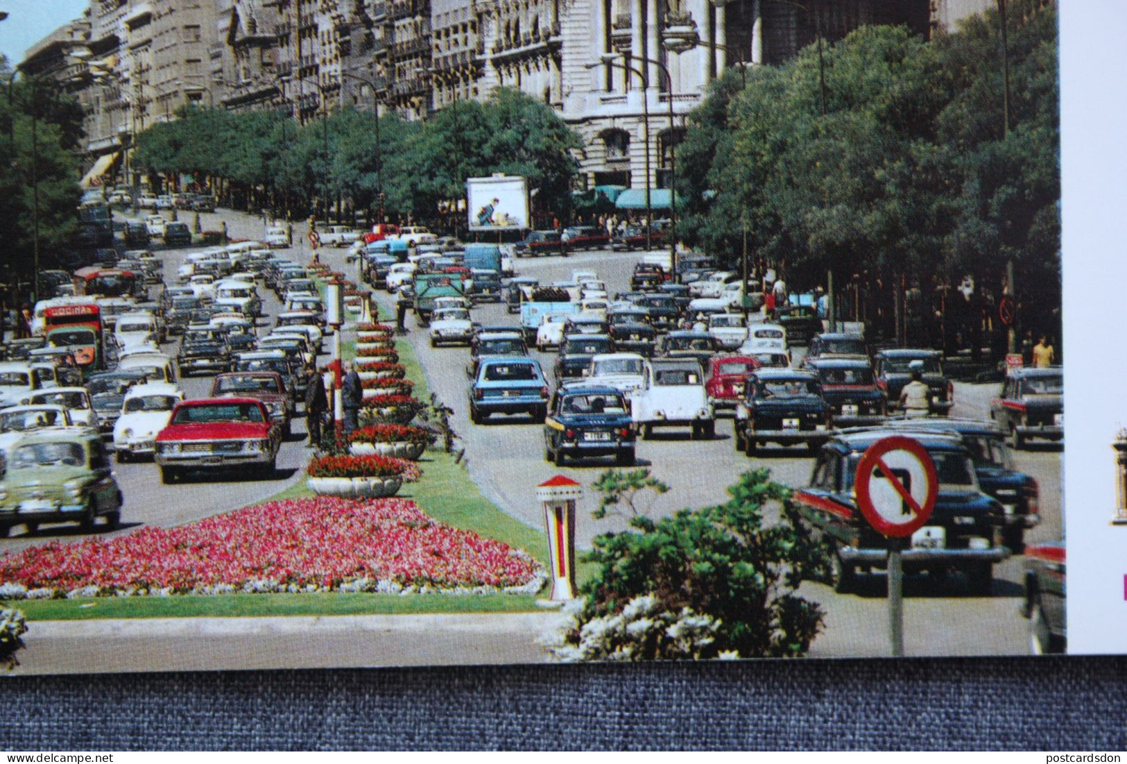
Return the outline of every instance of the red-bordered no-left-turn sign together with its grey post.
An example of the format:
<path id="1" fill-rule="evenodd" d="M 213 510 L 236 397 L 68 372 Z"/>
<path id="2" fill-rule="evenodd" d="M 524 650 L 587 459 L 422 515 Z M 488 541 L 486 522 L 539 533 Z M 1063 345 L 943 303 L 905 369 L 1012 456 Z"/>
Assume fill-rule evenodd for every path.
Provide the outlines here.
<path id="1" fill-rule="evenodd" d="M 920 531 L 935 507 L 935 462 L 919 441 L 902 435 L 869 446 L 853 485 L 861 514 L 888 539 L 888 638 L 893 656 L 904 655 L 904 567 L 906 540 Z"/>

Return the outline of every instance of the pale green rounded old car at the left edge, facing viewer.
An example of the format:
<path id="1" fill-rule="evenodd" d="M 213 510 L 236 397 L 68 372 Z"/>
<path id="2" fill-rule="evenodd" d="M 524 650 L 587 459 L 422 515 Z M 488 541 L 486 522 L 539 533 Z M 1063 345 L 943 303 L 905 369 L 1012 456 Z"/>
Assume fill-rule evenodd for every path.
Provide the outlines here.
<path id="1" fill-rule="evenodd" d="M 122 516 L 122 491 L 97 430 L 72 427 L 38 432 L 16 442 L 0 480 L 0 538 L 24 524 L 76 521 L 92 531 L 105 516 L 115 528 Z"/>

